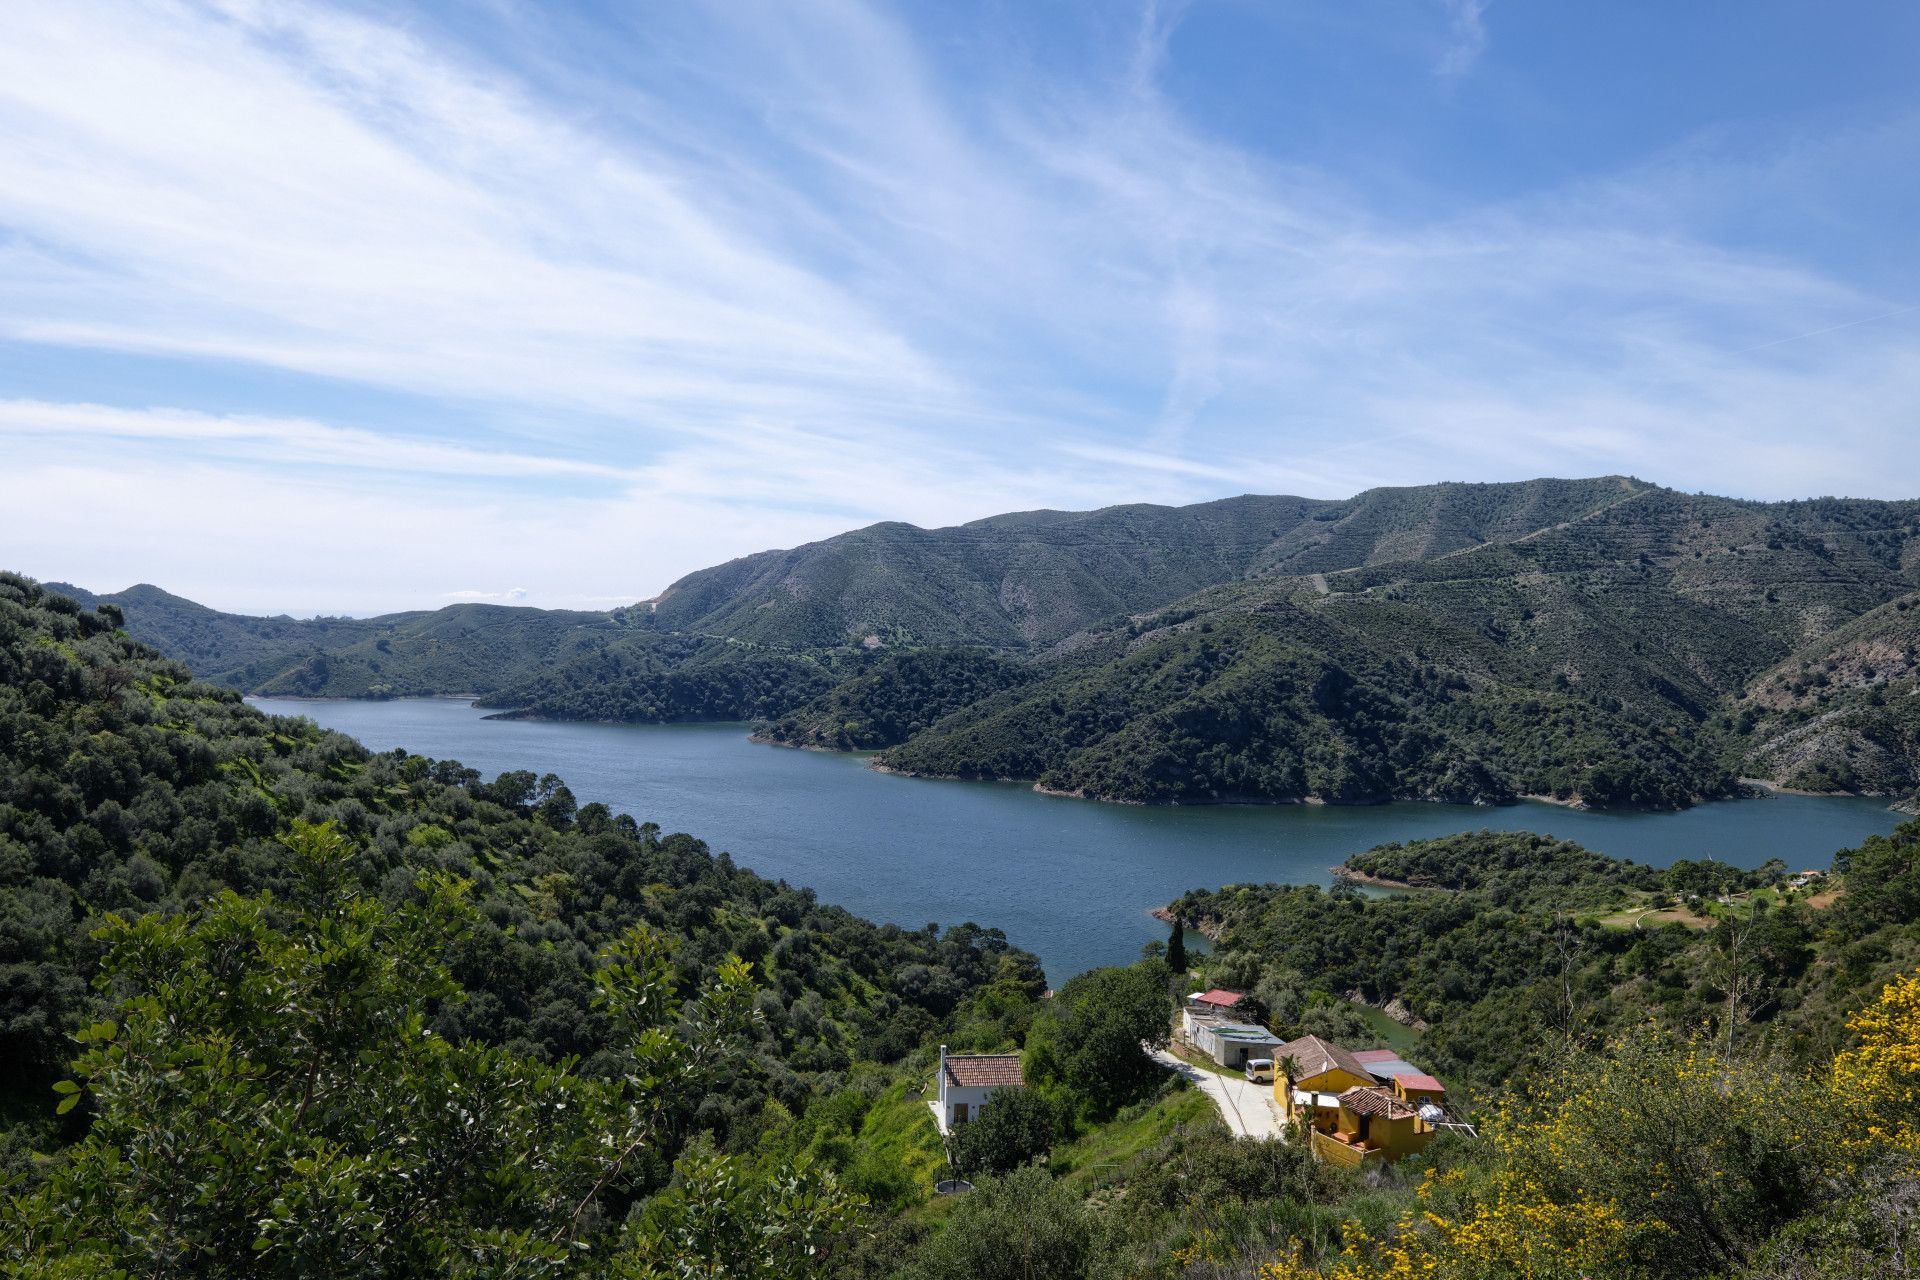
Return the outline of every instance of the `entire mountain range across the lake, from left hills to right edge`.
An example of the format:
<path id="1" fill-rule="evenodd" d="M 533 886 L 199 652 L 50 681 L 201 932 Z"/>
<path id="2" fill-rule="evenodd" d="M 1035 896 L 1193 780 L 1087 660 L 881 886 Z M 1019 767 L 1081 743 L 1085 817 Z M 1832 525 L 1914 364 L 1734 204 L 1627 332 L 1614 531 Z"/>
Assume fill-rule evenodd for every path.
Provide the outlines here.
<path id="1" fill-rule="evenodd" d="M 603 614 L 246 618 L 56 589 L 246 693 L 755 720 L 1110 800 L 1920 787 L 1916 501 L 1603 476 L 876 524 Z"/>

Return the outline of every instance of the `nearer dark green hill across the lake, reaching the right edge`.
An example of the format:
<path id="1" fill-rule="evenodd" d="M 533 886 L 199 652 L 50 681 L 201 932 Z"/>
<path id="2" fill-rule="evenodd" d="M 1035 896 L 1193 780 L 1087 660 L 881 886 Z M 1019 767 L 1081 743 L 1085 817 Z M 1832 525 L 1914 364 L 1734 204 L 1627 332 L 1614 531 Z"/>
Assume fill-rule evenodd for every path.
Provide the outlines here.
<path id="1" fill-rule="evenodd" d="M 1507 543 L 1221 585 L 1075 637 L 1043 679 L 881 762 L 1121 800 L 1668 806 L 1738 773 L 1903 794 L 1916 510 L 1644 489 Z M 1803 691 L 1834 687 L 1830 664 L 1874 674 L 1834 706 L 1768 710 L 1795 652 Z M 1799 756 L 1778 739 L 1816 716 L 1822 752 L 1862 768 L 1782 768 Z"/>

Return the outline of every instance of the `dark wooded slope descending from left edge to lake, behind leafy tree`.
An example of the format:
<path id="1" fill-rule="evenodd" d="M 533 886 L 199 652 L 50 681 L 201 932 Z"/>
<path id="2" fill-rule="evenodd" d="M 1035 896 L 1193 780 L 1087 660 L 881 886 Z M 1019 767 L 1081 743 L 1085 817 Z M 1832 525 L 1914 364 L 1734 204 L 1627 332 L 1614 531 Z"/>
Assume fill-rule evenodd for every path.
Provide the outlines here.
<path id="1" fill-rule="evenodd" d="M 449 1042 L 612 1071 L 618 1019 L 595 996 L 595 952 L 659 931 L 680 990 L 714 983 L 730 954 L 753 965 L 749 1042 L 672 1117 L 672 1146 L 630 1171 L 626 1199 L 659 1188 L 662 1157 L 695 1134 L 749 1144 L 858 1063 L 950 1032 L 983 992 L 1023 1002 L 1044 986 L 996 931 L 874 925 L 689 835 L 578 804 L 551 775 L 372 754 L 248 708 L 117 624 L 111 604 L 0 574 L 0 1173 L 79 1132 L 46 1100 L 109 994 L 90 986 L 94 931 L 109 913 L 175 919 L 223 890 L 311 906 L 311 867 L 284 842 L 303 823 L 351 846 L 348 887 L 382 910 L 411 910 L 422 875 L 465 883 L 472 927 L 444 956 L 457 998 L 426 1009 Z"/>

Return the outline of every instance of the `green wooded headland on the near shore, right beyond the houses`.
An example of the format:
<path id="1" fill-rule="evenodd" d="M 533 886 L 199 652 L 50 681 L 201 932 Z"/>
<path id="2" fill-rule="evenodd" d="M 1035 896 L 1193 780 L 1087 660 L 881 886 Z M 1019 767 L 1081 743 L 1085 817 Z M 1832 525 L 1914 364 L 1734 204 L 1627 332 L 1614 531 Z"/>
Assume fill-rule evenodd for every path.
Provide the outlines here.
<path id="1" fill-rule="evenodd" d="M 1908 827 L 1876 848 L 1920 839 L 1920 823 Z M 1657 871 L 1530 833 L 1384 844 L 1344 869 L 1428 890 L 1229 885 L 1173 910 L 1217 935 L 1206 981 L 1252 990 L 1279 1034 L 1363 1048 L 1377 1032 L 1346 1000 L 1400 1000 L 1430 1025 L 1421 1059 L 1467 1088 L 1647 1017 L 1814 1059 L 1836 1046 L 1839 1011 L 1920 946 L 1908 917 L 1868 925 L 1830 952 L 1841 963 L 1816 965 L 1832 917 L 1805 904 L 1713 908 L 1722 915 L 1707 929 L 1655 917 L 1611 927 L 1601 917 L 1622 904 L 1751 890 L 1768 877 L 1705 862 Z"/>

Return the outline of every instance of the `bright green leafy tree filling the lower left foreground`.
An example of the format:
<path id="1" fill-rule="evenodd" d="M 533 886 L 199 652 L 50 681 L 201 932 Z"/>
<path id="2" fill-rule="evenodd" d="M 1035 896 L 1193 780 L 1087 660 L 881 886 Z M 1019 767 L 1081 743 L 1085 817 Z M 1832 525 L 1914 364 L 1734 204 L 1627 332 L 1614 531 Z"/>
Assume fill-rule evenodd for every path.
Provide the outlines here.
<path id="1" fill-rule="evenodd" d="M 476 919 L 465 883 L 422 877 L 390 908 L 353 889 L 357 850 L 332 825 L 296 823 L 284 844 L 288 900 L 227 892 L 98 931 L 119 1017 L 81 1032 L 75 1079 L 56 1086 L 61 1111 L 92 1109 L 92 1128 L 0 1207 L 0 1263 L 369 1278 L 639 1267 L 607 1211 L 632 1199 L 636 1155 L 732 1055 L 749 1021 L 745 961 L 680 1002 L 666 940 L 618 936 L 595 1006 L 620 1050 L 588 1079 L 428 1031 L 428 1011 L 463 996 L 442 956 Z M 722 1174 L 756 1180 L 699 1171 Z M 806 1186 L 772 1196 L 797 1199 L 795 1228 L 856 1207 L 831 1178 L 783 1176 Z M 672 1234 L 691 1213 L 668 1205 L 662 1238 L 707 1249 L 705 1234 Z"/>

